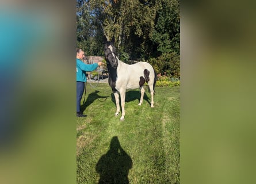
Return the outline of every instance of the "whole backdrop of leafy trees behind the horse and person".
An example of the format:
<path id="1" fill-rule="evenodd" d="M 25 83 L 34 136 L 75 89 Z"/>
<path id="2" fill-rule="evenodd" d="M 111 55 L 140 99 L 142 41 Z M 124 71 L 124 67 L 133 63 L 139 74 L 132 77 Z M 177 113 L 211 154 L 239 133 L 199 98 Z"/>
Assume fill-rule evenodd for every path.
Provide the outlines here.
<path id="1" fill-rule="evenodd" d="M 179 77 L 179 23 L 179 0 L 77 0 L 77 47 L 104 55 L 105 34 L 124 62 L 149 60 Z"/>

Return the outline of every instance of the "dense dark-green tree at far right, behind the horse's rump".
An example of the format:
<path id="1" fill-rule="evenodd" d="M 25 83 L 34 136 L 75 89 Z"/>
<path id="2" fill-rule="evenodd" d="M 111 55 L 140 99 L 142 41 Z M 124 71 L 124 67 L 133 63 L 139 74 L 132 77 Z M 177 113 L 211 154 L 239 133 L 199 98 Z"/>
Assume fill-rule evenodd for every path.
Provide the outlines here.
<path id="1" fill-rule="evenodd" d="M 158 1 L 155 30 L 151 40 L 155 43 L 158 56 L 155 63 L 162 66 L 159 72 L 167 72 L 179 78 L 180 72 L 180 17 L 178 0 Z M 161 64 L 159 64 L 161 63 Z"/>

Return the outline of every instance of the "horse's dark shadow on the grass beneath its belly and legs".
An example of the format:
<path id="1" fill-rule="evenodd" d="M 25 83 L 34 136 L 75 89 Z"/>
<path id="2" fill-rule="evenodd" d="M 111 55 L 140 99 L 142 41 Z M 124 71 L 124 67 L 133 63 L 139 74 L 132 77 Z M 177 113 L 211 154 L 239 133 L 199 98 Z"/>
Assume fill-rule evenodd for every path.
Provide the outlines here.
<path id="1" fill-rule="evenodd" d="M 137 99 L 138 104 L 139 104 L 139 102 L 140 102 L 140 95 L 141 95 L 140 91 L 135 91 L 135 90 L 127 91 L 125 93 L 125 102 L 131 102 L 131 101 L 135 101 Z M 114 104 L 116 104 L 116 99 L 114 98 L 114 94 L 113 93 L 111 94 L 111 99 L 112 99 L 112 102 Z M 148 104 L 151 104 L 150 98 L 148 98 L 148 95 L 146 94 L 146 91 L 144 93 L 143 100 L 146 100 L 148 102 Z"/>

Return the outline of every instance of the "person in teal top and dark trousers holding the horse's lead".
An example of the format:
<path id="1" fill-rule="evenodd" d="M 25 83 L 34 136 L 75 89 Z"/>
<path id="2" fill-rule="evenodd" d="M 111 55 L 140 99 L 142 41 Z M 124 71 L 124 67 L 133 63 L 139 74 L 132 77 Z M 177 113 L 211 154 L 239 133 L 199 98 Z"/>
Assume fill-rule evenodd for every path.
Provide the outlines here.
<path id="1" fill-rule="evenodd" d="M 80 110 L 83 91 L 85 91 L 86 71 L 96 70 L 102 64 L 102 62 L 85 64 L 82 62 L 83 57 L 85 53 L 82 49 L 77 49 L 77 117 L 86 117 Z"/>

